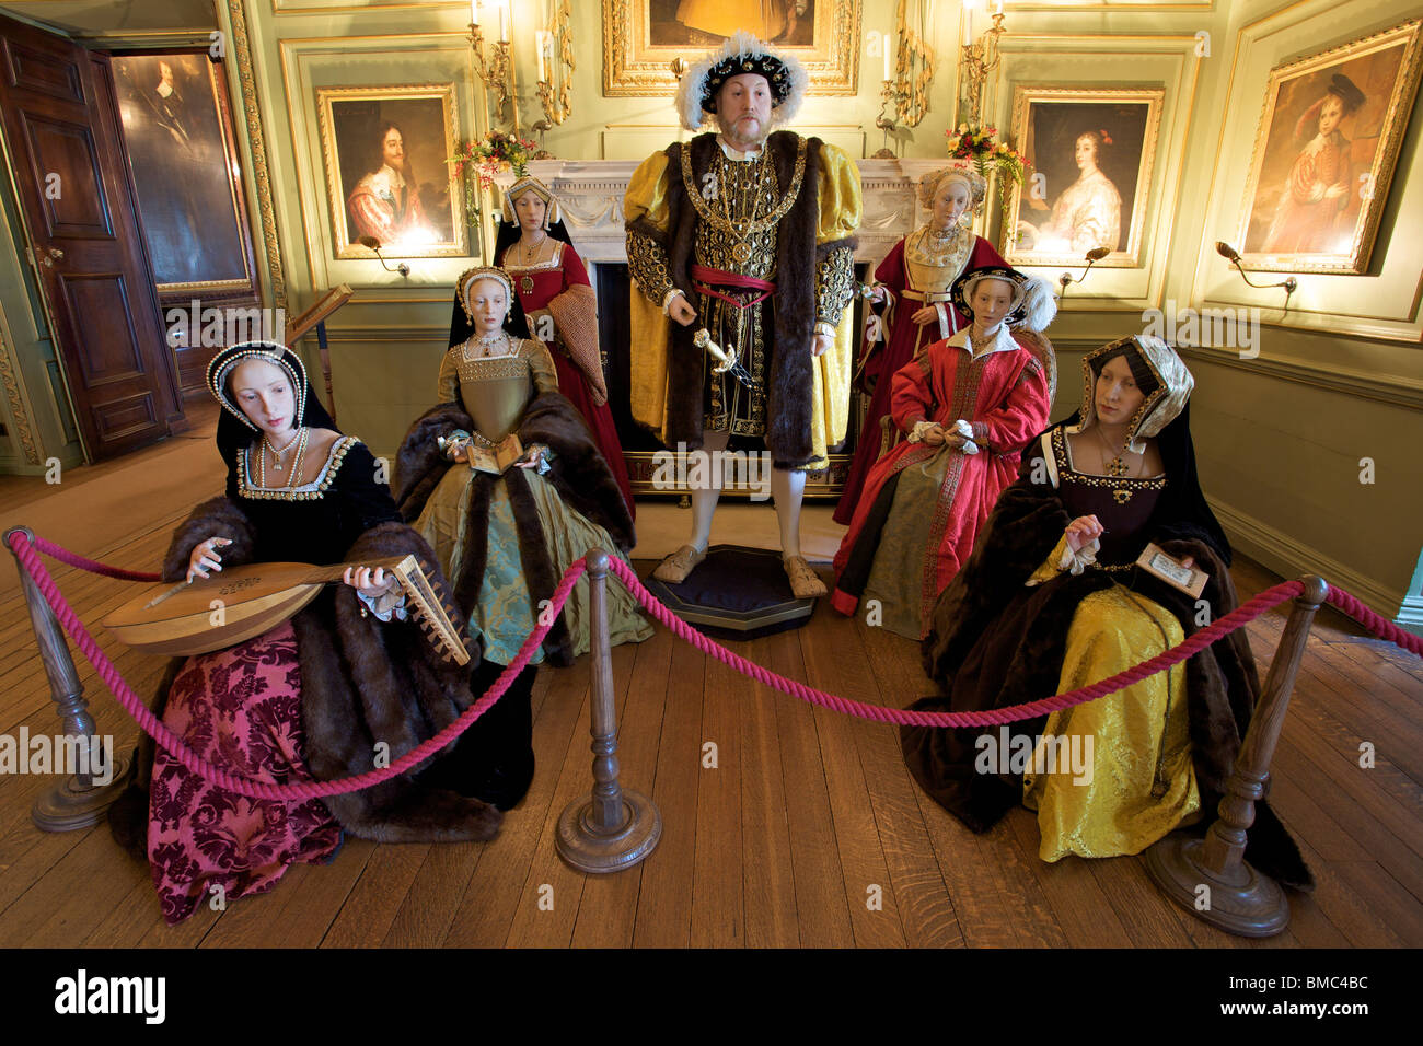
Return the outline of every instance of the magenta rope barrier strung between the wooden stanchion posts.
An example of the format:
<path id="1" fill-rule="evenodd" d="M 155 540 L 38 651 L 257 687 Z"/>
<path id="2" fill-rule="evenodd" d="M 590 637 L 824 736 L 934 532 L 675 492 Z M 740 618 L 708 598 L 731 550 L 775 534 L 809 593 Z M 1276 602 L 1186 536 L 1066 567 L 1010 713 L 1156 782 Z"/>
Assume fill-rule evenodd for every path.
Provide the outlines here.
<path id="1" fill-rule="evenodd" d="M 14 538 L 21 537 L 16 534 Z M 114 566 L 105 566 L 104 564 L 97 564 L 83 556 L 77 556 L 67 549 L 61 549 L 58 545 L 51 545 L 41 538 L 36 538 L 36 545 L 63 558 L 65 562 L 73 562 L 75 566 L 83 569 L 94 569 L 98 574 L 107 574 L 108 576 L 134 576 L 135 579 L 157 579 L 157 575 L 138 575 L 131 571 L 120 571 Z M 128 685 L 114 669 L 112 663 L 104 656 L 104 652 L 98 649 L 90 633 L 84 629 L 84 625 L 78 620 L 78 616 L 64 601 L 60 593 L 58 586 L 46 572 L 44 565 L 40 562 L 38 556 L 30 548 L 28 542 L 20 542 L 11 539 L 11 549 L 16 558 L 21 562 L 30 576 L 36 579 L 44 598 L 48 601 L 50 606 L 54 608 L 55 616 L 58 616 L 60 623 L 75 640 L 80 650 L 100 673 L 104 683 L 114 692 L 118 697 L 120 704 L 125 712 L 149 733 L 159 744 L 164 746 L 175 759 L 178 759 L 185 767 L 194 773 L 206 777 L 209 781 L 219 784 L 231 791 L 240 796 L 248 796 L 250 798 L 316 798 L 322 796 L 339 796 L 349 791 L 357 791 L 359 788 L 366 788 L 373 784 L 379 784 L 398 773 L 410 768 L 411 766 L 420 763 L 425 757 L 434 754 L 441 747 L 458 737 L 464 730 L 477 720 L 484 712 L 492 706 L 508 689 L 514 676 L 518 675 L 528 665 L 529 657 L 534 656 L 534 650 L 538 645 L 544 642 L 544 636 L 548 635 L 549 628 L 552 628 L 554 620 L 564 611 L 564 603 L 568 602 L 569 595 L 573 591 L 573 585 L 582 576 L 586 569 L 583 559 L 578 559 L 571 564 L 568 571 L 564 574 L 562 581 L 554 591 L 554 598 L 551 599 L 551 606 L 546 613 L 541 615 L 541 619 L 548 620 L 546 625 L 539 623 L 534 632 L 529 633 L 528 639 L 524 640 L 524 646 L 519 648 L 518 657 L 509 665 L 504 673 L 495 680 L 494 686 L 490 687 L 478 702 L 470 706 L 460 719 L 451 723 L 448 727 L 441 730 L 434 737 L 428 739 L 418 747 L 406 753 L 388 767 L 380 770 L 371 770 L 364 774 L 357 774 L 354 777 L 346 777 L 334 781 L 316 781 L 316 783 L 296 783 L 296 784 L 266 784 L 262 781 L 248 781 L 242 777 L 235 777 L 228 771 L 212 766 L 206 760 L 196 756 L 182 740 L 179 740 L 168 727 L 165 727 L 149 710 L 148 707 L 134 694 Z M 51 549 L 57 549 L 51 551 Z M 63 552 L 64 555 L 58 555 Z M 889 709 L 881 704 L 867 704 L 865 702 L 857 702 L 850 697 L 840 697 L 837 694 L 820 690 L 804 683 L 798 683 L 794 679 L 787 679 L 785 676 L 777 675 L 770 669 L 761 667 L 754 662 L 741 657 L 713 639 L 697 632 L 694 628 L 687 625 L 684 620 L 677 618 L 672 611 L 669 611 L 662 602 L 656 599 L 638 579 L 636 572 L 632 566 L 616 556 L 609 556 L 608 566 L 613 575 L 632 592 L 638 602 L 640 602 L 653 618 L 662 622 L 666 628 L 672 629 L 680 639 L 692 643 L 694 648 L 703 653 L 712 655 L 717 660 L 730 665 L 737 672 L 756 679 L 766 686 L 770 686 L 781 693 L 798 697 L 800 700 L 808 702 L 811 704 L 818 704 L 821 707 L 831 709 L 832 712 L 840 712 L 847 716 L 855 716 L 858 719 L 867 719 L 875 723 L 892 723 L 899 726 L 929 726 L 929 727 L 985 727 L 985 726 L 1005 726 L 1007 723 L 1016 723 L 1025 719 L 1036 719 L 1037 716 L 1047 714 L 1050 712 L 1060 712 L 1063 709 L 1070 709 L 1077 704 L 1086 704 L 1087 702 L 1104 697 L 1109 693 L 1121 690 L 1133 683 L 1138 683 L 1148 676 L 1163 672 L 1174 665 L 1184 662 L 1185 659 L 1194 656 L 1200 650 L 1214 643 L 1217 639 L 1244 628 L 1248 622 L 1254 620 L 1265 611 L 1278 606 L 1286 599 L 1298 596 L 1303 591 L 1303 585 L 1299 581 L 1286 581 L 1274 588 L 1269 588 L 1259 595 L 1257 595 L 1249 602 L 1242 603 L 1235 608 L 1224 618 L 1212 622 L 1211 625 L 1200 629 L 1183 642 L 1180 646 L 1174 646 L 1170 650 L 1164 650 L 1150 660 L 1134 665 L 1124 672 L 1103 679 L 1090 686 L 1083 686 L 1067 693 L 1053 694 L 1050 697 L 1043 697 L 1036 702 L 1027 702 L 1025 704 L 1015 704 L 1007 709 L 990 709 L 986 712 L 915 712 L 911 709 Z M 1359 620 L 1365 628 L 1372 630 L 1389 642 L 1402 646 L 1406 650 L 1423 656 L 1423 640 L 1407 632 L 1403 632 L 1392 622 L 1380 618 L 1368 606 L 1360 603 L 1355 596 L 1345 592 L 1343 589 L 1331 586 L 1328 602 L 1338 606 L 1340 611 L 1349 616 Z"/>

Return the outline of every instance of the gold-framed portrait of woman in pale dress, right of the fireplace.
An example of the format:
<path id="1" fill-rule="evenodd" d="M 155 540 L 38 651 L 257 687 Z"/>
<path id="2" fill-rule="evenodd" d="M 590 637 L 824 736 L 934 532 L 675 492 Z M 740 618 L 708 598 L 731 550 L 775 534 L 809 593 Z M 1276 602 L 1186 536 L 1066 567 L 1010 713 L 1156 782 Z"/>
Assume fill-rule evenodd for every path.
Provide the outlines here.
<path id="1" fill-rule="evenodd" d="M 1164 105 L 1160 87 L 1017 87 L 1012 134 L 1032 167 L 1013 191 L 1003 258 L 1077 265 L 1106 246 L 1097 265 L 1140 268 Z"/>

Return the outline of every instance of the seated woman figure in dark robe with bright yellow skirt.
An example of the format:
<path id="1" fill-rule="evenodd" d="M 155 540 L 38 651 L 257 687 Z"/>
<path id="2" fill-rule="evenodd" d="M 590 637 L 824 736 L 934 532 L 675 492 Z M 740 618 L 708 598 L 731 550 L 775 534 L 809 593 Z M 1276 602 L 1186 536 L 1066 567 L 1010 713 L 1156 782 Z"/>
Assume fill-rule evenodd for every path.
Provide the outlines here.
<path id="1" fill-rule="evenodd" d="M 1023 453 L 1020 478 L 935 606 L 924 657 L 942 696 L 914 707 L 999 709 L 1067 692 L 1235 609 L 1229 544 L 1195 475 L 1185 364 L 1137 336 L 1089 353 L 1083 373 L 1081 408 Z M 1133 566 L 1148 542 L 1207 574 L 1200 601 Z M 1037 810 L 1044 861 L 1137 854 L 1211 820 L 1258 689 L 1249 642 L 1234 632 L 1046 722 L 1003 733 L 905 727 L 901 741 L 921 787 L 975 831 L 1023 803 Z M 1006 759 L 1003 734 L 1056 737 L 1067 754 L 1049 760 L 1039 747 L 1027 773 L 1013 773 L 1023 767 Z M 1312 885 L 1265 804 L 1247 855 L 1286 885 Z"/>

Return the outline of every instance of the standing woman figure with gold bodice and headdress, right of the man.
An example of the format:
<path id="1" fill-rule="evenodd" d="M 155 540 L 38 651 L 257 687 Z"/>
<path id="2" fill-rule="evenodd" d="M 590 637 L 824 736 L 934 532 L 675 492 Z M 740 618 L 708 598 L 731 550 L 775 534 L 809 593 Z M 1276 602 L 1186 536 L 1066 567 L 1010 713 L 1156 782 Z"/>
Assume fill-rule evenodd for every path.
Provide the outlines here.
<path id="1" fill-rule="evenodd" d="M 838 524 L 854 518 L 865 475 L 879 458 L 889 379 L 922 349 L 969 324 L 949 300 L 953 280 L 985 265 L 1005 265 L 993 245 L 969 229 L 985 191 L 983 176 L 968 161 L 926 174 L 919 182 L 919 202 L 929 211 L 929 221 L 895 243 L 875 269 L 869 300 L 884 307 L 867 324 L 857 374 L 872 391 L 850 477 L 835 505 Z"/>

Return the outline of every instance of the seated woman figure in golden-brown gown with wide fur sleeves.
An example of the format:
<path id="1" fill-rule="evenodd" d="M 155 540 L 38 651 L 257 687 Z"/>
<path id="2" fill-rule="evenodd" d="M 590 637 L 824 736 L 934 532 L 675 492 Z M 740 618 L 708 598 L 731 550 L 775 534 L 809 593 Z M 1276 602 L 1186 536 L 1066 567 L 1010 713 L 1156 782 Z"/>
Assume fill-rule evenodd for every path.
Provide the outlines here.
<path id="1" fill-rule="evenodd" d="M 396 500 L 454 582 L 484 657 L 508 665 L 569 564 L 593 546 L 626 555 L 636 538 L 618 481 L 558 391 L 548 350 L 504 327 L 508 275 L 470 269 L 457 290 L 475 333 L 445 353 L 438 406 L 406 434 Z M 465 464 L 471 444 L 491 447 L 509 433 L 525 448 L 515 467 L 494 475 Z M 608 605 L 613 643 L 652 635 L 620 585 L 608 586 Z M 569 665 L 586 650 L 582 579 L 531 666 L 545 657 Z"/>

